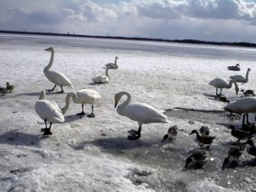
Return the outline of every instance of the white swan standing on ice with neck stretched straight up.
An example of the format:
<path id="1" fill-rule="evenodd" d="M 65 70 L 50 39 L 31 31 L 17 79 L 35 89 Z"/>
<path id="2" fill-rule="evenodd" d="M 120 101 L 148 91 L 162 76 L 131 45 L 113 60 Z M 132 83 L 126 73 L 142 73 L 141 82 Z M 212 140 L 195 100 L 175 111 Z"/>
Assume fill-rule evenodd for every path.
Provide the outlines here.
<path id="1" fill-rule="evenodd" d="M 48 78 L 53 84 L 55 84 L 52 89 L 49 89 L 47 91 L 53 91 L 56 86 L 60 86 L 61 88 L 63 86 L 73 88 L 71 81 L 64 74 L 57 72 L 57 71 L 50 70 L 52 68 L 52 63 L 53 63 L 53 58 L 54 58 L 54 50 L 52 47 L 45 49 L 45 50 L 51 51 L 51 59 L 50 59 L 49 64 L 43 69 L 43 73 L 46 78 Z M 60 93 L 63 93 L 63 89 Z"/>

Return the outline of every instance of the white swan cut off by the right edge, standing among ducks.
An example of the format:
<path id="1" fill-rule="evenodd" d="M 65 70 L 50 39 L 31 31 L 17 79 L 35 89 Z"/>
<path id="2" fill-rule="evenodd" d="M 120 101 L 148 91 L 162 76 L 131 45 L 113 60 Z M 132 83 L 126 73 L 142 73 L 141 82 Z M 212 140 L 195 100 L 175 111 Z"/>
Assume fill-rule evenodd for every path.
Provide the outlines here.
<path id="1" fill-rule="evenodd" d="M 249 124 L 248 114 L 256 113 L 256 98 L 244 97 L 238 99 L 231 104 L 226 105 L 224 109 L 231 113 L 243 114 L 242 124 L 244 124 L 245 116 L 247 117 L 247 123 Z"/>

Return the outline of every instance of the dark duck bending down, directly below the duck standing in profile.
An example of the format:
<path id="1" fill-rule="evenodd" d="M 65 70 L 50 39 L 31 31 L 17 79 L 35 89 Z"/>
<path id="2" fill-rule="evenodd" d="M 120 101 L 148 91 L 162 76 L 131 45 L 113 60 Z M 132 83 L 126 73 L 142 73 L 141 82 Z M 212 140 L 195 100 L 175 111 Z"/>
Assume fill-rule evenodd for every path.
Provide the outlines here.
<path id="1" fill-rule="evenodd" d="M 188 166 L 194 169 L 200 169 L 204 163 L 208 160 L 209 152 L 204 150 L 194 151 L 186 160 L 185 168 Z"/>

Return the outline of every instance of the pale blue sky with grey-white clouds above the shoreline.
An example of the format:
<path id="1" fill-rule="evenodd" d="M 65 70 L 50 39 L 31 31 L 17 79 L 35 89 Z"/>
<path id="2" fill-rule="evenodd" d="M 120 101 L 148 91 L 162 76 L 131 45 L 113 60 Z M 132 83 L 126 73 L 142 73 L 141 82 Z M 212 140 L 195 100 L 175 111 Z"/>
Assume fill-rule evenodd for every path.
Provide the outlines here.
<path id="1" fill-rule="evenodd" d="M 256 0 L 1 0 L 0 30 L 256 42 Z"/>

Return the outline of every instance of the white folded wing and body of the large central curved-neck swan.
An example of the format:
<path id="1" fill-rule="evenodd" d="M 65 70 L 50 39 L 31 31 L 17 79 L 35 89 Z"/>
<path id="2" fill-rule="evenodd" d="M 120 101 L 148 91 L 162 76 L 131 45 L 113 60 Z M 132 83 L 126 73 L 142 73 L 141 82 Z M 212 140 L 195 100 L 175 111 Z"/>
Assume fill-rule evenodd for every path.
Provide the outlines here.
<path id="1" fill-rule="evenodd" d="M 139 123 L 167 123 L 168 118 L 151 105 L 134 103 L 126 105 L 119 114 L 127 116 L 129 119 Z"/>

